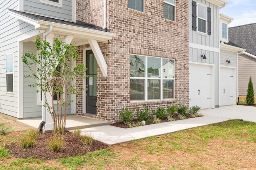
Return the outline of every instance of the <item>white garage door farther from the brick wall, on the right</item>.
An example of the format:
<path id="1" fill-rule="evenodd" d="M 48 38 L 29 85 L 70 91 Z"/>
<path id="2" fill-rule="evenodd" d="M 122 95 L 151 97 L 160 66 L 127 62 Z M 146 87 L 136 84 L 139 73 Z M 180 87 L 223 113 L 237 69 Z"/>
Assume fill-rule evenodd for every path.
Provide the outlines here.
<path id="1" fill-rule="evenodd" d="M 235 69 L 220 67 L 220 106 L 233 104 L 236 104 Z"/>

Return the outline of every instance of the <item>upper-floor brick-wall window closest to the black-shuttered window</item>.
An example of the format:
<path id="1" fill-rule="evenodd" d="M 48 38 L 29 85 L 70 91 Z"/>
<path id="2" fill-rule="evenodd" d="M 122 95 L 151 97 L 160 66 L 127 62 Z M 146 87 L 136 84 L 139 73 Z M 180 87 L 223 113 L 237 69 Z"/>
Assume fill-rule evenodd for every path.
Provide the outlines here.
<path id="1" fill-rule="evenodd" d="M 164 0 L 164 19 L 175 21 L 175 0 Z"/>

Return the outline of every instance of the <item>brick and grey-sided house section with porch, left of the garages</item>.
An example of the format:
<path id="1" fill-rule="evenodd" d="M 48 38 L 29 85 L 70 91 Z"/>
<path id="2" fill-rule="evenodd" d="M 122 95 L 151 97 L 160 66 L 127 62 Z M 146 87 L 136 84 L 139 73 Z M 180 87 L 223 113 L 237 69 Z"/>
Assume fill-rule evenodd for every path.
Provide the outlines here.
<path id="1" fill-rule="evenodd" d="M 186 0 L 1 2 L 0 112 L 42 117 L 44 129 L 52 128 L 21 61 L 25 52 L 37 53 L 37 35 L 51 43 L 55 37 L 75 42 L 76 63 L 88 68 L 70 114 L 115 122 L 126 106 L 188 106 L 188 7 Z"/>

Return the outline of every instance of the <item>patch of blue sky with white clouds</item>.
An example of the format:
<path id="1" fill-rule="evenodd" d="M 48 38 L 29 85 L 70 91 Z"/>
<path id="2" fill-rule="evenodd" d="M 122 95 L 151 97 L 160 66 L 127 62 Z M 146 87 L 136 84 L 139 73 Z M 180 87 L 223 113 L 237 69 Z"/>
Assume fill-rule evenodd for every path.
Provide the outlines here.
<path id="1" fill-rule="evenodd" d="M 256 23 L 256 0 L 226 0 L 229 2 L 220 9 L 220 14 L 224 14 L 234 20 L 228 27 Z"/>

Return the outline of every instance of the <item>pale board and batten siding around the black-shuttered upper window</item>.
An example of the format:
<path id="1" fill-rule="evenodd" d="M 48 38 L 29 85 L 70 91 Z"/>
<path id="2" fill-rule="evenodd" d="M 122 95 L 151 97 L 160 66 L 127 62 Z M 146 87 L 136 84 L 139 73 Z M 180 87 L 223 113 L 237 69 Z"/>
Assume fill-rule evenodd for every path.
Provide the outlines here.
<path id="1" fill-rule="evenodd" d="M 192 30 L 192 0 L 189 0 L 189 43 L 205 45 L 208 47 L 219 48 L 219 8 L 205 0 L 194 0 L 198 6 L 201 4 L 211 8 L 211 35 Z M 206 10 L 207 11 L 207 10 Z M 206 21 L 207 25 L 207 21 Z"/>

